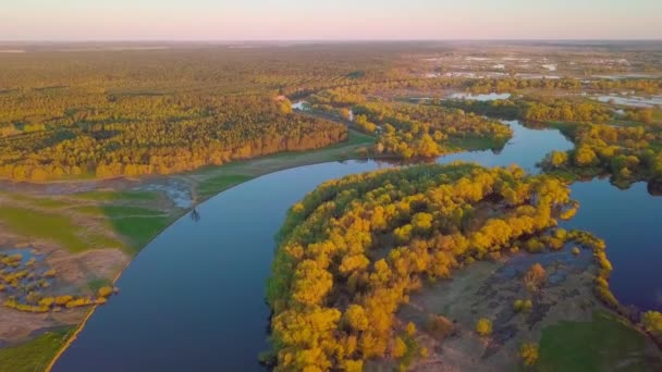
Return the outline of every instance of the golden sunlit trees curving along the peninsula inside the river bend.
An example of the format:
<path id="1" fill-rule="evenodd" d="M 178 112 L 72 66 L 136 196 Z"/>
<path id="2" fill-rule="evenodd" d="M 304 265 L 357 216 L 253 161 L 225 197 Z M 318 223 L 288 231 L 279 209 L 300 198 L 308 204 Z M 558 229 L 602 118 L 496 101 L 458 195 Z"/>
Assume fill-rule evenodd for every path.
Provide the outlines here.
<path id="1" fill-rule="evenodd" d="M 426 356 L 415 328 L 395 320 L 410 292 L 525 246 L 575 208 L 559 179 L 517 168 L 410 166 L 322 184 L 280 233 L 267 290 L 270 361 L 280 371 L 360 371 L 367 359 Z"/>

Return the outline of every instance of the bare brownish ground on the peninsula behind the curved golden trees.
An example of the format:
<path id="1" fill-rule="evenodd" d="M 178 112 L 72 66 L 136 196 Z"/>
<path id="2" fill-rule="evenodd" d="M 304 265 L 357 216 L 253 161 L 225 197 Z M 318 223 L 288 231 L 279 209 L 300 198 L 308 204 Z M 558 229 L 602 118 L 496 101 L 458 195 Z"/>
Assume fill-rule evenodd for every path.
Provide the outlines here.
<path id="1" fill-rule="evenodd" d="M 540 263 L 548 280 L 537 292 L 530 292 L 523 276 Z M 415 371 L 512 371 L 519 364 L 522 343 L 538 343 L 541 331 L 561 320 L 587 321 L 604 307 L 592 294 L 597 270 L 590 251 L 580 256 L 569 249 L 542 255 L 520 253 L 501 262 L 477 262 L 456 272 L 452 280 L 428 284 L 410 296 L 399 312 L 402 322 L 414 322 L 421 332 L 420 347 L 429 357 L 417 360 Z M 531 300 L 530 311 L 514 309 L 517 299 Z M 450 336 L 440 339 L 428 332 L 431 315 L 445 317 L 453 323 Z M 489 337 L 475 332 L 476 322 L 493 322 Z"/>

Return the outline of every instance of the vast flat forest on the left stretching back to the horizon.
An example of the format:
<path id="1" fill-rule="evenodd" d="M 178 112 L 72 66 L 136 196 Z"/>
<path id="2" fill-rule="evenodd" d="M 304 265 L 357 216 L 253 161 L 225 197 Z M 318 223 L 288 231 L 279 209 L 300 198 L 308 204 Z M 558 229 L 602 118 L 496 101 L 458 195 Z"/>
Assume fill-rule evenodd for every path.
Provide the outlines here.
<path id="1" fill-rule="evenodd" d="M 0 178 L 170 174 L 344 141 L 343 125 L 292 113 L 280 95 L 385 78 L 396 52 L 193 45 L 2 54 Z"/>

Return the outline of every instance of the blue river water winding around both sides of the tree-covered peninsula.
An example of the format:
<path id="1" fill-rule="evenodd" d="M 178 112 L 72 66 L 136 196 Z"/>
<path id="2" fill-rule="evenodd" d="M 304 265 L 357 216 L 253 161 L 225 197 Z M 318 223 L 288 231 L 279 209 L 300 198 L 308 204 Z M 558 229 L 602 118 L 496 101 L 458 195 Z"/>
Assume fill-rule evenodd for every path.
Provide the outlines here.
<path id="1" fill-rule="evenodd" d="M 507 123 L 514 137 L 503 150 L 438 162 L 517 163 L 537 173 L 548 152 L 573 147 L 555 129 Z M 182 218 L 143 249 L 118 282 L 120 295 L 97 309 L 53 371 L 262 370 L 257 355 L 268 348 L 265 285 L 287 208 L 327 179 L 387 166 L 347 161 L 295 168 L 200 204 L 199 221 Z M 615 295 L 662 309 L 662 198 L 651 197 L 645 184 L 621 191 L 599 179 L 574 185 L 573 197 L 581 207 L 568 227 L 605 238 Z"/>

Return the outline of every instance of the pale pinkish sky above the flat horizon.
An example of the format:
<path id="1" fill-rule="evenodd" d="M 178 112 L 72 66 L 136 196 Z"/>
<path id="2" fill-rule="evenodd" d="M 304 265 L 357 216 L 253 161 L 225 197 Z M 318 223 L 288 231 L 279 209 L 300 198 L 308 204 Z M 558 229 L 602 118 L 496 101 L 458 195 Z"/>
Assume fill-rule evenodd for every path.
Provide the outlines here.
<path id="1" fill-rule="evenodd" d="M 0 0 L 0 40 L 662 39 L 662 0 Z"/>

